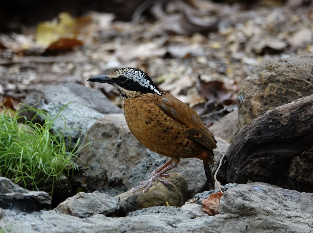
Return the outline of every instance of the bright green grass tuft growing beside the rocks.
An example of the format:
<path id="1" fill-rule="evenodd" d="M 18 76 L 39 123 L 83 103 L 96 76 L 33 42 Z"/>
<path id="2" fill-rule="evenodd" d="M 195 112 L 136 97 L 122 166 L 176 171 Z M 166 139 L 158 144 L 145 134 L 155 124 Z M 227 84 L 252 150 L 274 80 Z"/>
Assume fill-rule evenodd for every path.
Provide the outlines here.
<path id="1" fill-rule="evenodd" d="M 33 190 L 38 190 L 37 184 L 51 178 L 54 182 L 62 173 L 69 177 L 71 171 L 78 169 L 72 159 L 77 158 L 80 140 L 73 145 L 68 138 L 66 146 L 63 134 L 53 126 L 66 106 L 54 117 L 45 111 L 27 107 L 16 116 L 0 114 L 0 176 L 11 179 L 15 184 L 22 183 L 25 187 L 31 184 Z M 22 116 L 24 111 L 35 112 L 33 119 L 40 116 L 44 123 L 32 123 L 33 119 L 28 121 Z M 66 127 L 66 130 L 69 131 L 69 128 Z"/>

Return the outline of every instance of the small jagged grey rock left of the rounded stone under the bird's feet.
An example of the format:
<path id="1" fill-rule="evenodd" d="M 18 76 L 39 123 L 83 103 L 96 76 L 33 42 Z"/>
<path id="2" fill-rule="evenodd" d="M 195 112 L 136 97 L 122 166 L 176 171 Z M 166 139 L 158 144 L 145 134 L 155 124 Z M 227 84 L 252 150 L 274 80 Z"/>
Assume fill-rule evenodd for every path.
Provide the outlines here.
<path id="1" fill-rule="evenodd" d="M 111 216 L 119 211 L 118 199 L 108 194 L 95 191 L 93 193 L 78 193 L 60 203 L 54 210 L 80 218 L 95 214 Z"/>

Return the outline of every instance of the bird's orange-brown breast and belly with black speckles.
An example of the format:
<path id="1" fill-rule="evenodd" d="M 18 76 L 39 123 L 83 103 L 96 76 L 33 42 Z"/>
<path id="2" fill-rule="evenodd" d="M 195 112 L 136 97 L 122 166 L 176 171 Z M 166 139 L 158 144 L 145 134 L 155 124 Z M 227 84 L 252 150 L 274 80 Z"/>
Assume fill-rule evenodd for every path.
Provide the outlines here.
<path id="1" fill-rule="evenodd" d="M 187 129 L 167 116 L 152 101 L 126 99 L 124 114 L 134 136 L 147 148 L 168 157 L 190 158 L 203 151 L 187 137 Z"/>

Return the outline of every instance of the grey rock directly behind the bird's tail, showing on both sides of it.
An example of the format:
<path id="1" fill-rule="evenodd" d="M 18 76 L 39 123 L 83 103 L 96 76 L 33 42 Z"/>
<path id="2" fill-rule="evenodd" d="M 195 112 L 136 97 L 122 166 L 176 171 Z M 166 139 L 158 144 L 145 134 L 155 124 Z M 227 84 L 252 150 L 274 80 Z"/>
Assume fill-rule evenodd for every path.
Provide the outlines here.
<path id="1" fill-rule="evenodd" d="M 223 156 L 223 153 L 227 150 L 229 143 L 222 138 L 215 137 L 217 141 L 217 149 L 214 149 L 214 166 L 213 173 L 215 173 L 219 161 Z M 192 198 L 196 193 L 203 192 L 208 189 L 208 181 L 205 177 L 202 160 L 198 158 L 181 159 L 176 168 L 173 168 L 171 172 L 176 172 L 182 175 L 188 183 L 187 198 Z"/>

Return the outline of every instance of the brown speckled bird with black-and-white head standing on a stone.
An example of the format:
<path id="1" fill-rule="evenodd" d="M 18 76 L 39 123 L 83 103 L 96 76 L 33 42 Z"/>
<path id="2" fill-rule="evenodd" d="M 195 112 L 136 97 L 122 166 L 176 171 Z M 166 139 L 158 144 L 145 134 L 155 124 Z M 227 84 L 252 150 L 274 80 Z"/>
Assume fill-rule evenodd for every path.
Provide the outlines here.
<path id="1" fill-rule="evenodd" d="M 115 86 L 124 100 L 124 115 L 132 134 L 148 149 L 171 158 L 152 171 L 146 181 L 132 188 L 131 193 L 140 189 L 145 193 L 154 182 L 175 187 L 160 178 L 177 174 L 167 172 L 177 167 L 180 158 L 203 160 L 209 189 L 215 189 L 211 166 L 217 141 L 190 106 L 161 91 L 145 72 L 135 68 L 122 68 L 109 75 L 91 77 L 88 81 Z"/>

